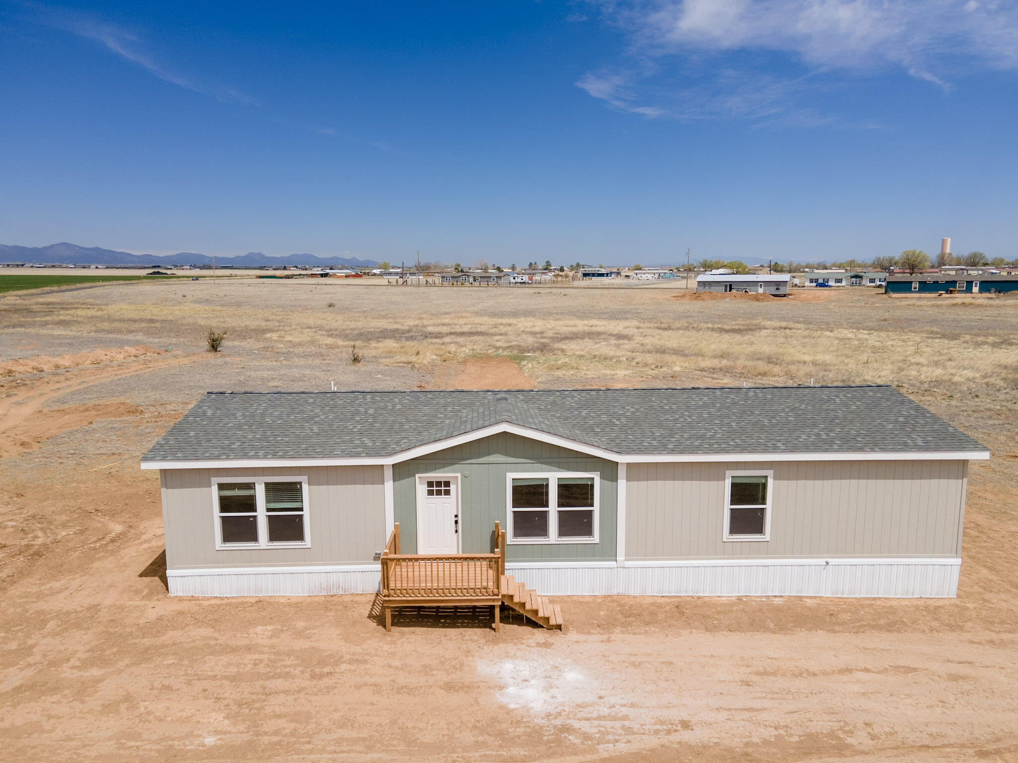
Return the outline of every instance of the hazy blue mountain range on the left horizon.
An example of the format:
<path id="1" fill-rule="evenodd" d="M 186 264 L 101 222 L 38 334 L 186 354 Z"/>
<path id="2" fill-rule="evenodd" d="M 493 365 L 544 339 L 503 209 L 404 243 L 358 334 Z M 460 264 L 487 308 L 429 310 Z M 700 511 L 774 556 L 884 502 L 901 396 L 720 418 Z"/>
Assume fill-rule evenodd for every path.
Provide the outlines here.
<path id="1" fill-rule="evenodd" d="M 0 262 L 25 262 L 27 265 L 105 265 L 121 267 L 159 267 L 171 265 L 212 265 L 208 254 L 181 251 L 177 254 L 131 254 L 98 246 L 86 247 L 67 242 L 49 246 L 13 246 L 0 244 Z M 266 268 L 280 266 L 326 268 L 336 265 L 343 268 L 378 268 L 374 259 L 355 257 L 319 257 L 315 254 L 286 254 L 270 256 L 260 251 L 249 251 L 235 257 L 216 257 L 220 268 Z"/>

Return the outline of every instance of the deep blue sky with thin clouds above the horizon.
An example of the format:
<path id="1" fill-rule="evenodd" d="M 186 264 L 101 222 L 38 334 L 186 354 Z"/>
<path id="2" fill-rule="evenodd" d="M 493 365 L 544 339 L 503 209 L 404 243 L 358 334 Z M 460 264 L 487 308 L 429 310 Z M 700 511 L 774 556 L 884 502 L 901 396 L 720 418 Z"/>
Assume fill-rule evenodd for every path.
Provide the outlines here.
<path id="1" fill-rule="evenodd" d="M 1012 259 L 1016 74 L 991 0 L 0 0 L 0 243 Z"/>

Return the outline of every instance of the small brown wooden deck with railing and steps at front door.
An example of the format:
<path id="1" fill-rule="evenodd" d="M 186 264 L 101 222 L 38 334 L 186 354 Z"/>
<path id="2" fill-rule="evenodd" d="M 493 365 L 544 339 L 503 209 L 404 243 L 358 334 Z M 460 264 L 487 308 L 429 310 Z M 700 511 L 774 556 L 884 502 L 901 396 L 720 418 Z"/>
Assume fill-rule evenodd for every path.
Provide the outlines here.
<path id="1" fill-rule="evenodd" d="M 562 628 L 561 610 L 547 598 L 506 578 L 506 534 L 495 523 L 493 553 L 426 555 L 400 553 L 399 523 L 382 551 L 382 606 L 385 629 L 392 630 L 392 610 L 407 606 L 491 606 L 500 629 L 503 603 L 545 628 Z M 557 611 L 556 611 L 557 610 Z M 557 617 L 556 617 L 557 615 Z"/>

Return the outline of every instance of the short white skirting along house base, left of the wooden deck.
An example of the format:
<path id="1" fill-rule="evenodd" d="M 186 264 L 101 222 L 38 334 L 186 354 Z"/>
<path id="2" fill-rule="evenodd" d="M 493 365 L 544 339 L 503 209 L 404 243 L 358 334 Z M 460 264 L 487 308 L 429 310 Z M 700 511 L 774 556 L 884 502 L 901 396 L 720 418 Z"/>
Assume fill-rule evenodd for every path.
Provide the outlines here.
<path id="1" fill-rule="evenodd" d="M 320 596 L 375 593 L 379 565 L 167 570 L 171 596 Z"/>

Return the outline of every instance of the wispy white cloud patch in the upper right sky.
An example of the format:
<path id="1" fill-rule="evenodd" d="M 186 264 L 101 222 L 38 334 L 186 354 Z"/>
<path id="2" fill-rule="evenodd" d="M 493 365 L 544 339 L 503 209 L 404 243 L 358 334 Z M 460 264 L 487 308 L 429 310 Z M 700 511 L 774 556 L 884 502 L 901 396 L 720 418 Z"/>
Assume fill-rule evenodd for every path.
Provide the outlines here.
<path id="1" fill-rule="evenodd" d="M 648 117 L 831 124 L 843 120 L 810 99 L 839 77 L 899 71 L 947 92 L 970 71 L 1018 69 L 1018 4 L 1006 0 L 591 4 L 627 48 L 577 86 Z"/>

